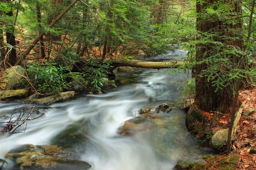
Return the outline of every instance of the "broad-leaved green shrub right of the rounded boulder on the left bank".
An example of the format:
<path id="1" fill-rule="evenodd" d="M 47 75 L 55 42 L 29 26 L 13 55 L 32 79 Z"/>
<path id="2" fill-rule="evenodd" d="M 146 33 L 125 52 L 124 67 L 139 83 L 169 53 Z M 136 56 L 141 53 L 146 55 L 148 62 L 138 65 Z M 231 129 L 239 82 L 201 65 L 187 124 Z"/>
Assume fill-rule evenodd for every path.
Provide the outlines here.
<path id="1" fill-rule="evenodd" d="M 40 93 L 57 93 L 68 88 L 69 85 L 64 76 L 65 72 L 70 69 L 53 63 L 43 63 L 41 65 L 35 63 L 27 65 L 27 75 L 35 89 Z"/>

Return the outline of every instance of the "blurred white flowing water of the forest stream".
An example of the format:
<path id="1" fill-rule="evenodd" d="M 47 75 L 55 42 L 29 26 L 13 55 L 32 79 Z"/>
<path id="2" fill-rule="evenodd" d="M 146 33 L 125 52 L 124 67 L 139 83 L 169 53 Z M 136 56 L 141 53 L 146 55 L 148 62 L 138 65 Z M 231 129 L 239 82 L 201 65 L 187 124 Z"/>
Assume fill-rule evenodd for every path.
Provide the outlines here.
<path id="1" fill-rule="evenodd" d="M 158 59 L 180 59 L 185 54 L 177 50 Z M 180 100 L 182 89 L 177 90 L 171 81 L 183 82 L 186 75 L 163 72 L 166 70 L 121 70 L 115 73 L 118 87 L 105 94 L 79 95 L 47 108 L 38 105 L 45 115 L 20 127 L 19 131 L 26 127 L 25 133 L 0 134 L 0 159 L 20 144 L 57 144 L 72 148 L 76 159 L 92 164 L 92 170 L 172 170 L 179 159 L 211 153 L 189 133 L 186 113 L 178 109 L 165 114 L 166 129 L 138 131 L 133 136 L 118 133 L 123 122 L 139 116 L 140 108 L 160 103 L 174 107 Z M 12 113 L 16 105 L 23 103 L 1 102 L 0 115 Z"/>

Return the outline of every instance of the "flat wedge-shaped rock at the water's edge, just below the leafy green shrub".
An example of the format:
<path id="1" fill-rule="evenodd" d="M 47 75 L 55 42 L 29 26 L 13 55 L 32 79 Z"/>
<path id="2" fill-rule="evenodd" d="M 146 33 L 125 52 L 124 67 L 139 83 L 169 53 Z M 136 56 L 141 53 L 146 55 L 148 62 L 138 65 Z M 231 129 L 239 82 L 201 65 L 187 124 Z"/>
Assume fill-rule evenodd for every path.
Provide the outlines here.
<path id="1" fill-rule="evenodd" d="M 52 96 L 47 96 L 47 97 L 44 97 L 41 99 L 34 99 L 34 100 L 32 100 L 32 102 L 42 104 L 42 105 L 48 105 L 49 103 L 57 102 L 62 99 L 67 99 L 74 95 L 75 95 L 75 91 L 67 91 L 67 92 L 58 93 L 58 94 L 55 94 Z"/>

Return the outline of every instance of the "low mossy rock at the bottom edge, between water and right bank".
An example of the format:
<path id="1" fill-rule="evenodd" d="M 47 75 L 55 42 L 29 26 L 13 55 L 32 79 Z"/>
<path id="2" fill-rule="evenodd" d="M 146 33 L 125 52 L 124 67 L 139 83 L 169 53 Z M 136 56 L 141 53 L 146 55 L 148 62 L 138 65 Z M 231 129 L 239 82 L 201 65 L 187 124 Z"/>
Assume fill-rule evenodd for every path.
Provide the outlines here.
<path id="1" fill-rule="evenodd" d="M 205 163 L 203 159 L 180 159 L 175 165 L 175 168 L 177 170 L 191 170 Z"/>

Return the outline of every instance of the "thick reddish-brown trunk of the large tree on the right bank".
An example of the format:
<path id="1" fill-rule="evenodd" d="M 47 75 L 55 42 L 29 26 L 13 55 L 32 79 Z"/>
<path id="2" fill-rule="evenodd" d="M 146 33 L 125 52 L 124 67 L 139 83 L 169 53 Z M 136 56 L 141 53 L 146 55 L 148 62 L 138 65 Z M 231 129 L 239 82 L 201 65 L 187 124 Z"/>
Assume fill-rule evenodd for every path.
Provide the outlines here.
<path id="1" fill-rule="evenodd" d="M 213 36 L 215 38 L 214 41 L 223 42 L 226 45 L 233 45 L 234 47 L 241 49 L 241 39 L 231 41 L 231 38 L 220 38 L 221 36 L 237 37 L 237 31 L 242 26 L 241 22 L 239 20 L 234 20 L 236 21 L 236 25 L 233 25 L 232 23 L 227 23 L 225 20 L 220 20 L 215 14 L 207 14 L 207 11 L 205 11 L 207 7 L 213 6 L 214 10 L 217 9 L 217 7 L 213 5 L 214 3 L 223 3 L 233 7 L 233 11 L 230 11 L 230 15 L 237 15 L 241 12 L 241 1 L 233 2 L 233 0 L 224 0 L 223 2 L 220 2 L 219 0 L 205 0 L 204 3 L 198 1 L 196 4 L 196 12 L 198 14 L 197 31 L 211 34 L 218 33 L 218 36 Z M 230 18 L 232 17 L 235 18 L 236 16 L 230 16 Z M 202 62 L 204 59 L 210 57 L 212 51 L 216 50 L 217 49 L 215 49 L 213 43 L 197 44 L 196 61 Z M 238 65 L 239 57 L 231 54 L 229 57 L 234 65 Z M 218 77 L 215 77 L 215 80 L 209 80 L 205 76 L 201 77 L 202 71 L 206 70 L 209 65 L 209 62 L 204 61 L 203 63 L 197 64 L 195 67 L 195 102 L 203 111 L 227 112 L 227 108 L 232 105 L 233 91 L 230 85 L 215 91 L 216 87 L 212 86 L 212 84 Z"/>

